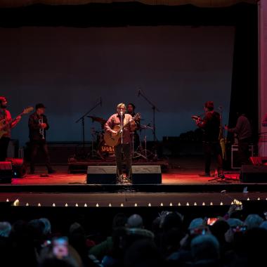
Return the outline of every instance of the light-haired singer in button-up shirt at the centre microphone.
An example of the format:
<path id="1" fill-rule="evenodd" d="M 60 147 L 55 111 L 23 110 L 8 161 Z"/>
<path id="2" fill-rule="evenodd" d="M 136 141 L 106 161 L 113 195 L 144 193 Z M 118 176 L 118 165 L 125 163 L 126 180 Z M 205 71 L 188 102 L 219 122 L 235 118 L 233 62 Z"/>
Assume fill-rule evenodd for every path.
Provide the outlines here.
<path id="1" fill-rule="evenodd" d="M 112 115 L 108 122 L 105 123 L 105 131 L 108 133 L 117 133 L 113 131 L 115 125 L 122 125 L 130 122 L 133 118 L 131 115 L 126 114 L 126 105 L 119 103 L 117 105 L 117 113 Z M 123 183 L 125 180 L 131 182 L 131 127 L 133 127 L 134 121 L 128 124 L 122 132 L 122 143 L 119 142 L 115 145 L 115 156 L 117 162 L 117 183 Z M 123 154 L 122 154 L 123 153 Z M 125 158 L 126 163 L 126 178 L 124 178 L 122 171 L 122 159 Z"/>

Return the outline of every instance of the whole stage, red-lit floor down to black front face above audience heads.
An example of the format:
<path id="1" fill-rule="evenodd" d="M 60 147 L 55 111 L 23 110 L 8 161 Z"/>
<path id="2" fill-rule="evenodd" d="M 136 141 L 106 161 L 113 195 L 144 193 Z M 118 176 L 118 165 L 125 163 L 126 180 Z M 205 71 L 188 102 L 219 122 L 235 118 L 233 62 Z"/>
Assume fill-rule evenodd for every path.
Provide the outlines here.
<path id="1" fill-rule="evenodd" d="M 226 171 L 226 178 L 209 181 L 214 177 L 198 176 L 202 163 L 202 157 L 170 159 L 161 184 L 141 185 L 87 184 L 86 174 L 70 174 L 67 164 L 54 165 L 56 174 L 42 177 L 46 167 L 37 166 L 36 174 L 0 185 L 0 219 L 47 216 L 60 230 L 78 220 L 97 231 L 112 225 L 120 212 L 141 214 L 149 222 L 161 211 L 178 211 L 189 223 L 202 214 L 223 216 L 235 200 L 242 202 L 245 214 L 265 211 L 267 183 L 242 183 L 239 171 Z"/>

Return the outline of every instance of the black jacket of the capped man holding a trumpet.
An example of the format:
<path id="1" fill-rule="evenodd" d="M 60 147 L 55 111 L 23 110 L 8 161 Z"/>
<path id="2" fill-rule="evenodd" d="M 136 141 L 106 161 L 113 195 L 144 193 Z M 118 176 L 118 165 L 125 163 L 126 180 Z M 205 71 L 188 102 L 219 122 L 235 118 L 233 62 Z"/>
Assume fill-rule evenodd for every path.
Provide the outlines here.
<path id="1" fill-rule="evenodd" d="M 46 129 L 44 129 L 44 139 L 46 139 L 46 131 L 49 129 L 46 115 L 41 115 L 39 117 L 37 112 L 34 112 L 32 115 L 30 115 L 28 122 L 30 141 L 39 141 L 42 139 L 39 126 L 39 119 L 41 119 L 41 117 L 43 118 L 43 123 L 47 125 Z"/>

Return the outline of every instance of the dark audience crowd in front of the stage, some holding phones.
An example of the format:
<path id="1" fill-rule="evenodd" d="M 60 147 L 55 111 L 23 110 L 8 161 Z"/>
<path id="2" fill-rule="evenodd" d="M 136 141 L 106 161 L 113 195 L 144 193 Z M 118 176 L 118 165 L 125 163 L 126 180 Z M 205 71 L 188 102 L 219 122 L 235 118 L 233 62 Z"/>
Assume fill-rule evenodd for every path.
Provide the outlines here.
<path id="1" fill-rule="evenodd" d="M 113 219 L 112 234 L 103 242 L 90 240 L 93 247 L 79 223 L 72 223 L 66 236 L 56 237 L 47 218 L 12 225 L 3 221 L 1 266 L 266 266 L 267 221 L 258 214 L 249 214 L 242 221 L 236 214 L 238 218 L 245 215 L 230 207 L 226 216 L 213 224 L 200 217 L 185 223 L 178 212 L 162 211 L 146 226 L 139 214 L 120 213 Z"/>

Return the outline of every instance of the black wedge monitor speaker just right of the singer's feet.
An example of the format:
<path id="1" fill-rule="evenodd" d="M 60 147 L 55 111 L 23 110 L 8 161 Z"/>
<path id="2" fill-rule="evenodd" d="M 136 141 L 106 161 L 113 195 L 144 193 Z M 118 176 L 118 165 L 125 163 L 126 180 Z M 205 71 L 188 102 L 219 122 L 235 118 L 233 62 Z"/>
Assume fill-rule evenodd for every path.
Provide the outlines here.
<path id="1" fill-rule="evenodd" d="M 162 183 L 162 170 L 159 165 L 132 166 L 133 184 Z"/>

